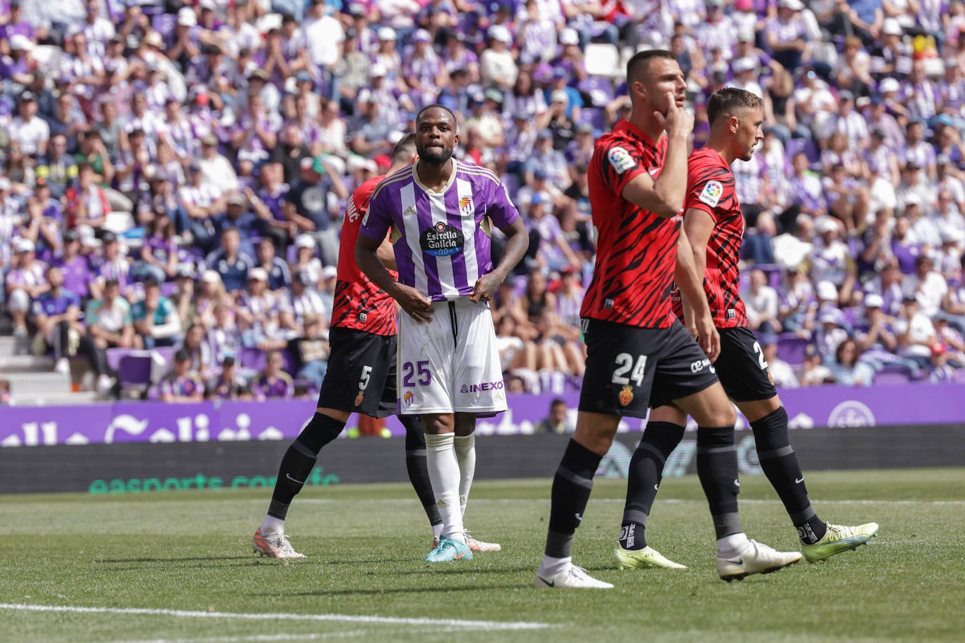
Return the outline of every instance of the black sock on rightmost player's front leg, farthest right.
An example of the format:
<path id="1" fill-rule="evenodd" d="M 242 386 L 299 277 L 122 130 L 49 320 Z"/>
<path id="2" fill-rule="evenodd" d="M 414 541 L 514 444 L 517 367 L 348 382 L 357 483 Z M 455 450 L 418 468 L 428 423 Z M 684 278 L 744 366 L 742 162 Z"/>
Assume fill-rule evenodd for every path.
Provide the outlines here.
<path id="1" fill-rule="evenodd" d="M 787 436 L 785 408 L 781 407 L 751 422 L 751 428 L 758 447 L 760 469 L 764 470 L 764 475 L 784 502 L 798 536 L 803 542 L 813 545 L 824 536 L 827 525 L 814 513 L 811 500 L 808 499 L 804 474 Z"/>

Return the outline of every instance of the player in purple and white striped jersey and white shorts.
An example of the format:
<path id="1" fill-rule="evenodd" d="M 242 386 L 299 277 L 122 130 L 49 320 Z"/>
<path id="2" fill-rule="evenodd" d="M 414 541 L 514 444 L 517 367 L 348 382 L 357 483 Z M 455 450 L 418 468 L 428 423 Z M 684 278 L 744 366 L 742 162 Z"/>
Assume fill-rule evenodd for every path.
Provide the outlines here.
<path id="1" fill-rule="evenodd" d="M 429 105 L 416 117 L 419 161 L 372 194 L 355 249 L 359 267 L 401 306 L 401 412 L 422 415 L 427 466 L 443 537 L 429 562 L 468 560 L 462 514 L 476 468 L 477 415 L 506 411 L 489 299 L 529 246 L 492 172 L 453 158 L 455 115 Z M 507 236 L 493 268 L 490 225 Z M 376 255 L 392 228 L 399 281 Z"/>

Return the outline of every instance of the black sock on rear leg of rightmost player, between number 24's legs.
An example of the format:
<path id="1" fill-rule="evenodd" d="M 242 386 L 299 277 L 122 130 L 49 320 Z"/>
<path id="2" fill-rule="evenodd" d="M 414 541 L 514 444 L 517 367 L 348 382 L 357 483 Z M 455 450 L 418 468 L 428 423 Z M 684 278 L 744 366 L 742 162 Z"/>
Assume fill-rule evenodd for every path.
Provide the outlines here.
<path id="1" fill-rule="evenodd" d="M 626 503 L 620 524 L 620 547 L 644 549 L 644 530 L 657 489 L 663 479 L 667 458 L 683 439 L 684 427 L 673 422 L 648 422 L 644 438 L 630 459 L 626 480 Z"/>

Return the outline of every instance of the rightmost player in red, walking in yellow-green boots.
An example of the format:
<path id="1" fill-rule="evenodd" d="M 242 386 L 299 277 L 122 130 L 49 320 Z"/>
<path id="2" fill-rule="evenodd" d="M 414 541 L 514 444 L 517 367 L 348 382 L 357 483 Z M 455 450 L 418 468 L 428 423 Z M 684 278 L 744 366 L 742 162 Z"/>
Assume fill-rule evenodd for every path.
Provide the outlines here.
<path id="1" fill-rule="evenodd" d="M 683 230 L 697 273 L 704 276 L 703 290 L 720 335 L 721 351 L 714 368 L 728 396 L 751 422 L 760 468 L 784 502 L 805 557 L 810 562 L 823 560 L 865 544 L 877 534 L 878 525 L 841 526 L 817 517 L 787 436 L 787 412 L 738 293 L 744 219 L 731 163 L 737 158 L 750 160 L 763 138 L 762 102 L 750 92 L 724 88 L 710 96 L 707 120 L 707 143 L 688 161 Z M 682 314 L 680 309 L 676 312 Z M 644 529 L 664 461 L 683 436 L 686 420 L 684 410 L 671 405 L 650 413 L 644 438 L 630 461 L 620 543 L 614 550 L 622 568 L 665 567 L 639 554 L 647 549 Z"/>

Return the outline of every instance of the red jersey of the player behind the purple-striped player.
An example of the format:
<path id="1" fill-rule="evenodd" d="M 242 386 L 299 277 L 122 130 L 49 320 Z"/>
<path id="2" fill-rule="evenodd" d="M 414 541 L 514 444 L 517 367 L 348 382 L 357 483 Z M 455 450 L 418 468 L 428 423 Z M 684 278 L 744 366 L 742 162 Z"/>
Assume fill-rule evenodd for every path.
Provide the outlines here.
<path id="1" fill-rule="evenodd" d="M 339 276 L 332 306 L 333 328 L 354 329 L 372 335 L 396 335 L 395 301 L 372 283 L 355 263 L 355 242 L 362 218 L 369 209 L 375 186 L 383 178 L 384 175 L 375 176 L 362 183 L 345 204 L 345 221 L 339 245 Z M 394 271 L 390 270 L 389 273 L 396 279 Z"/>

